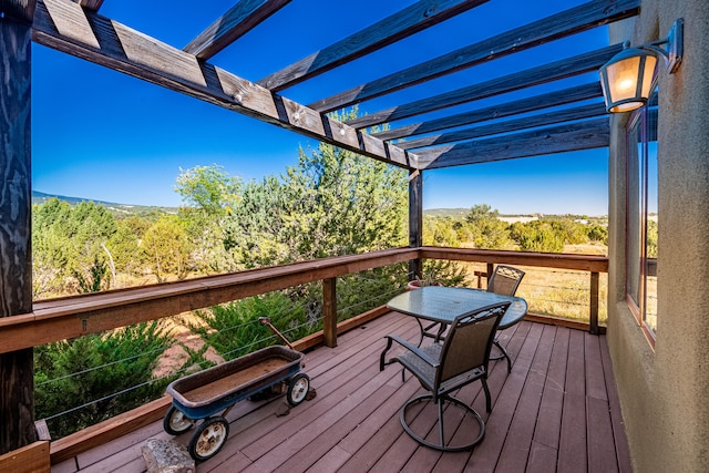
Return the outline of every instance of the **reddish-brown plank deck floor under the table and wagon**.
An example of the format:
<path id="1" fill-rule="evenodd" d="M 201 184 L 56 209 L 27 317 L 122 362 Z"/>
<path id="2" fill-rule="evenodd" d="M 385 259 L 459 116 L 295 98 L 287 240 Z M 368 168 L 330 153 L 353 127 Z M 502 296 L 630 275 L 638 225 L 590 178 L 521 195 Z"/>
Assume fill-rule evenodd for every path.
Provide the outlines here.
<path id="1" fill-rule="evenodd" d="M 335 349 L 308 353 L 317 397 L 281 417 L 282 397 L 236 404 L 226 445 L 197 472 L 631 471 L 604 336 L 528 321 L 502 332 L 514 366 L 510 374 L 504 360 L 491 366 L 492 413 L 484 413 L 479 382 L 458 394 L 483 414 L 485 439 L 472 453 L 441 454 L 399 423 L 399 408 L 420 390 L 415 379 L 402 383 L 398 364 L 379 372 L 383 336 L 413 339 L 417 331 L 412 319 L 389 313 L 341 336 Z M 188 435 L 177 440 L 186 444 Z M 157 422 L 52 472 L 143 472 L 150 438 L 171 435 Z"/>

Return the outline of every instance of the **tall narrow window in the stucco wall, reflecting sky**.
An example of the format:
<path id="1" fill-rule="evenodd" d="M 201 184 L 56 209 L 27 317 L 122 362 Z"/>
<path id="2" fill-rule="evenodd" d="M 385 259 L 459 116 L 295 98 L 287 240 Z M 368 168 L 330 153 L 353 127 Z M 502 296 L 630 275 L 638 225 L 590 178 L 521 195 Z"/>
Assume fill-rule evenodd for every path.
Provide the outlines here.
<path id="1" fill-rule="evenodd" d="M 651 343 L 657 330 L 657 89 L 628 123 L 626 299 Z"/>

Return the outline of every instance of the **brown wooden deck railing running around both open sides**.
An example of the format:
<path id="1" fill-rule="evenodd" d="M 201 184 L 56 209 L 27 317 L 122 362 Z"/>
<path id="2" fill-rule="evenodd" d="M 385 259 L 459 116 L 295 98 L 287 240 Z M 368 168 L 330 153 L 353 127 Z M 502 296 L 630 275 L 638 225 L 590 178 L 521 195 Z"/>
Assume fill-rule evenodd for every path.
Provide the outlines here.
<path id="1" fill-rule="evenodd" d="M 323 258 L 150 287 L 37 301 L 31 313 L 0 319 L 0 353 L 175 316 L 318 280 L 322 281 L 323 329 L 295 345 L 298 350 L 320 343 L 335 347 L 339 332 L 386 312 L 384 308 L 373 309 L 338 325 L 337 278 L 414 259 L 482 263 L 487 266 L 487 274 L 492 273 L 494 264 L 589 271 L 589 318 L 588 323 L 580 326 L 590 332 L 598 332 L 598 280 L 599 274 L 608 270 L 605 257 L 421 247 Z M 530 317 L 551 321 L 536 316 Z M 154 401 L 53 442 L 52 463 L 162 418 L 168 403 L 168 399 Z"/>

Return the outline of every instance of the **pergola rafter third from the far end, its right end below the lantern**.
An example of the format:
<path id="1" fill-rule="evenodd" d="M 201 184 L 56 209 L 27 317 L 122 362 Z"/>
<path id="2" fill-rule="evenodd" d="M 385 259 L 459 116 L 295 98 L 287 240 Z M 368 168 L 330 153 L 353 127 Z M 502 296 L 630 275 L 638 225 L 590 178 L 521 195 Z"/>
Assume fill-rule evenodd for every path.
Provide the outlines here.
<path id="1" fill-rule="evenodd" d="M 533 112 L 535 110 L 548 109 L 551 106 L 564 105 L 573 102 L 580 102 L 602 96 L 599 82 L 590 82 L 584 85 L 573 86 L 561 91 L 535 95 L 527 99 L 507 102 L 500 105 L 492 105 L 485 109 L 473 110 L 471 112 L 459 113 L 443 119 L 431 120 L 429 122 L 415 123 L 401 126 L 399 128 L 387 130 L 376 133 L 374 136 L 381 140 L 397 140 L 405 136 L 421 135 L 439 130 L 452 128 L 455 126 L 469 125 L 471 123 L 484 122 L 486 120 L 500 119 L 503 116 L 516 115 L 518 113 Z"/>

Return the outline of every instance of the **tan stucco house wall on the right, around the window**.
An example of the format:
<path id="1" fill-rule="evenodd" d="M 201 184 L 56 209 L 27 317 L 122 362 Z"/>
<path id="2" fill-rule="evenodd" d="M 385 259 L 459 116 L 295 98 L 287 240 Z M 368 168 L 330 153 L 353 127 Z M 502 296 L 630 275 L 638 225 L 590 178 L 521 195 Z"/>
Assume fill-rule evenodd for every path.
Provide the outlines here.
<path id="1" fill-rule="evenodd" d="M 608 343 L 637 472 L 709 472 L 709 4 L 644 0 L 612 42 L 664 38 L 685 54 L 659 79 L 658 323 L 653 350 L 625 304 L 625 125 L 613 116 Z"/>

